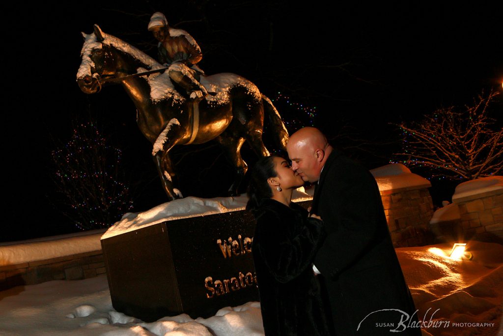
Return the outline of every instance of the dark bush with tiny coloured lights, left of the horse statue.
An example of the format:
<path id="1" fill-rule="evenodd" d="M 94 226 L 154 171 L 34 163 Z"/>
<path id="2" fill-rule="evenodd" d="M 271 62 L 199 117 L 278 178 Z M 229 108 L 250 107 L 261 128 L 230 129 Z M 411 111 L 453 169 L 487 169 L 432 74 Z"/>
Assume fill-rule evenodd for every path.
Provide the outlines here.
<path id="1" fill-rule="evenodd" d="M 107 228 L 132 208 L 121 151 L 93 123 L 77 124 L 52 152 L 56 208 L 80 230 Z"/>

